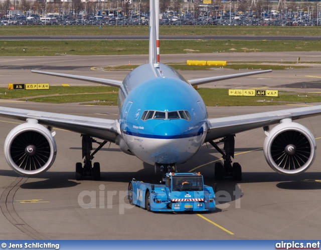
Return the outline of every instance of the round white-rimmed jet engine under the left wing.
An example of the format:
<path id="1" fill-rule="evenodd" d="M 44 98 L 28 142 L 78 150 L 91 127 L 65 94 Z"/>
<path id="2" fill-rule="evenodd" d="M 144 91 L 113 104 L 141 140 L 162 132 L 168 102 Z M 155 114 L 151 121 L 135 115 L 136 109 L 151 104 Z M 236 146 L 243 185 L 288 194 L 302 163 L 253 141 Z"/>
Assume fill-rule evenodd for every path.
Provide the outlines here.
<path id="1" fill-rule="evenodd" d="M 51 131 L 35 119 L 16 126 L 5 141 L 8 164 L 22 175 L 35 175 L 47 171 L 57 153 L 56 141 Z"/>

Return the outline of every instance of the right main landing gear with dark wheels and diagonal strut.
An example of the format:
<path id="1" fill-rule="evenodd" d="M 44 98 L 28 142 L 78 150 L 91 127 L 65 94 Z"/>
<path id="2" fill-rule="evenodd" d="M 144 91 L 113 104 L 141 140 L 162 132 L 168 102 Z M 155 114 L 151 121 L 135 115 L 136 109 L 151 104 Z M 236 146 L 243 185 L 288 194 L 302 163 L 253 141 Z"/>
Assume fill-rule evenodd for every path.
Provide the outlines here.
<path id="1" fill-rule="evenodd" d="M 222 154 L 222 158 L 224 160 L 224 165 L 221 162 L 215 163 L 215 174 L 214 178 L 218 180 L 223 180 L 224 177 L 233 177 L 235 180 L 241 180 L 242 179 L 242 168 L 241 165 L 237 162 L 234 162 L 232 165 L 232 159 L 234 158 L 234 136 L 228 135 L 225 136 L 223 139 L 219 140 L 218 142 L 209 141 L 209 143 L 215 147 L 216 150 L 218 150 Z M 218 143 L 224 142 L 224 151 L 221 150 L 221 148 L 218 147 Z"/>

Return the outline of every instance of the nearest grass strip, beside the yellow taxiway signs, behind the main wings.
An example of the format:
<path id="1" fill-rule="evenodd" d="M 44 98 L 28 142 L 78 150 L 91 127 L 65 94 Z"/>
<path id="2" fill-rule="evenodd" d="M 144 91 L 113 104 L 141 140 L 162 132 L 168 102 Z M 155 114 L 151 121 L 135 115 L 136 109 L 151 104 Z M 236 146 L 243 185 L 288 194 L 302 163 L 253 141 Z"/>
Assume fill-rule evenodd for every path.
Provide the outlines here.
<path id="1" fill-rule="evenodd" d="M 291 103 L 321 102 L 321 94 L 307 93 L 298 96 L 298 92 L 279 91 L 279 97 L 229 96 L 227 88 L 199 88 L 197 90 L 207 106 L 253 106 Z M 94 105 L 117 105 L 118 88 L 108 86 L 51 86 L 48 90 L 8 90 L 0 88 L 2 99 L 19 99 L 25 101 L 70 103 Z M 37 97 L 34 97 L 39 95 Z M 273 98 L 273 101 L 271 99 Z M 266 100 L 262 102 L 262 100 Z M 98 102 L 99 100 L 99 102 Z"/>

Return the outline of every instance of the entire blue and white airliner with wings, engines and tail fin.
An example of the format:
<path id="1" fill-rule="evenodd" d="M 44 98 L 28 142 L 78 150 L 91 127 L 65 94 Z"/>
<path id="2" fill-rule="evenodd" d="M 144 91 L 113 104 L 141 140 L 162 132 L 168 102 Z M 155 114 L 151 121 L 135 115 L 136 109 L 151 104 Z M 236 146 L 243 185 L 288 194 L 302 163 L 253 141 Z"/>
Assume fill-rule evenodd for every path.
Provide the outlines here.
<path id="1" fill-rule="evenodd" d="M 215 177 L 240 180 L 241 166 L 232 164 L 234 136 L 258 127 L 265 131 L 264 155 L 275 171 L 297 174 L 313 163 L 314 137 L 293 120 L 320 114 L 321 105 L 209 119 L 204 101 L 193 86 L 271 70 L 187 80 L 172 67 L 159 63 L 158 0 L 150 0 L 150 10 L 149 63 L 132 70 L 123 81 L 33 70 L 119 87 L 117 119 L 0 107 L 1 116 L 26 121 L 13 128 L 4 146 L 6 160 L 16 172 L 33 176 L 50 168 L 57 152 L 53 127 L 82 134 L 84 164 L 76 163 L 77 180 L 100 178 L 100 165 L 92 164 L 92 159 L 106 142 L 116 143 L 123 152 L 163 172 L 186 162 L 209 142 L 224 159 L 224 164 L 215 164 Z M 269 129 L 272 124 L 277 125 Z M 91 152 L 95 138 L 103 142 Z M 218 147 L 219 142 L 224 142 L 224 151 Z"/>

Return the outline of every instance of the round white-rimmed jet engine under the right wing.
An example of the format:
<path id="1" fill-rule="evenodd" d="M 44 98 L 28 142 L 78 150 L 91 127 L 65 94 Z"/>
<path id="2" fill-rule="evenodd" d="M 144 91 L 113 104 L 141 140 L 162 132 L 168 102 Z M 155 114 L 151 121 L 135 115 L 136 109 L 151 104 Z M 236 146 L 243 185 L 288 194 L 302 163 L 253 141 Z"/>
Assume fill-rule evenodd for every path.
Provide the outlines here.
<path id="1" fill-rule="evenodd" d="M 271 168 L 283 174 L 304 172 L 315 158 L 315 139 L 305 126 L 283 119 L 266 133 L 264 156 Z"/>

